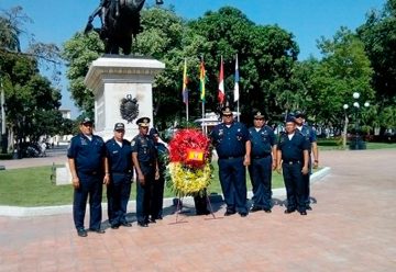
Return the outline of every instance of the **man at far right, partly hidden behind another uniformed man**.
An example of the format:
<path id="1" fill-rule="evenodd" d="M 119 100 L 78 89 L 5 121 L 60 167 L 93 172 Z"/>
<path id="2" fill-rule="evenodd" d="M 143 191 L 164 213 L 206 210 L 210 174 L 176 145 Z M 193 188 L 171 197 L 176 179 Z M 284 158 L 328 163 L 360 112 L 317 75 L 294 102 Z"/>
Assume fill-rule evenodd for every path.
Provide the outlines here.
<path id="1" fill-rule="evenodd" d="M 311 206 L 310 204 L 310 190 L 309 190 L 309 179 L 310 179 L 310 174 L 311 174 L 311 168 L 312 168 L 312 161 L 311 161 L 311 154 L 314 154 L 314 168 L 318 168 L 319 165 L 319 151 L 318 151 L 318 145 L 317 145 L 317 136 L 315 131 L 312 129 L 312 127 L 308 126 L 305 123 L 305 114 L 301 111 L 296 111 L 295 112 L 295 117 L 296 117 L 296 124 L 297 124 L 297 129 L 304 135 L 304 137 L 306 137 L 306 139 L 310 143 L 309 146 L 309 161 L 308 161 L 308 169 L 309 169 L 309 173 L 305 174 L 302 177 L 304 180 L 304 188 L 305 188 L 305 193 L 304 193 L 304 200 L 307 206 L 307 209 L 311 211 Z"/>

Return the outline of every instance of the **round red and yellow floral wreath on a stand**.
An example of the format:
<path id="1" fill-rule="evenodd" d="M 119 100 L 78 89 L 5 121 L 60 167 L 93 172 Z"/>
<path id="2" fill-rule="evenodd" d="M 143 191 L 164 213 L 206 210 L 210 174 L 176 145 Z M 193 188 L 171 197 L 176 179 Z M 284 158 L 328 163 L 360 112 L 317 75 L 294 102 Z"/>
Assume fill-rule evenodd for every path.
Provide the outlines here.
<path id="1" fill-rule="evenodd" d="M 210 184 L 209 147 L 209 138 L 197 129 L 178 131 L 170 140 L 167 184 L 177 195 L 196 195 Z"/>

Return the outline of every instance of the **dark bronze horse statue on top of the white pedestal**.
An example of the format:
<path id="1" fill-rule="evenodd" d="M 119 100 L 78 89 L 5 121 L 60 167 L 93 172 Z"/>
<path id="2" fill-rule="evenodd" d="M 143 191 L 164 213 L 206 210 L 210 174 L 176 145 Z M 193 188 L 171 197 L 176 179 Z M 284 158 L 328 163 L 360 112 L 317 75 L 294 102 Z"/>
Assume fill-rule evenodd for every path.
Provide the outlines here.
<path id="1" fill-rule="evenodd" d="M 84 33 L 96 31 L 105 43 L 106 54 L 131 54 L 132 38 L 142 32 L 140 11 L 145 0 L 101 0 L 99 7 L 88 18 Z M 156 0 L 156 4 L 163 4 Z M 94 29 L 92 21 L 99 15 L 101 29 Z"/>

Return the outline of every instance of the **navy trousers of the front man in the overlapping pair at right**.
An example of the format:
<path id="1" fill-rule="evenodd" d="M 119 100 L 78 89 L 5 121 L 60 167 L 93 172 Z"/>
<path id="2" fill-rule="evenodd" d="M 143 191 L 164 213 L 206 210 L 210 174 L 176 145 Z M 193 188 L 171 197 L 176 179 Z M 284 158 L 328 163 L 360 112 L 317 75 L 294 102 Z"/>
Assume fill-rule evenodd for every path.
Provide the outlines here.
<path id="1" fill-rule="evenodd" d="M 284 162 L 282 170 L 286 186 L 287 209 L 306 211 L 301 162 L 296 161 L 292 165 Z"/>

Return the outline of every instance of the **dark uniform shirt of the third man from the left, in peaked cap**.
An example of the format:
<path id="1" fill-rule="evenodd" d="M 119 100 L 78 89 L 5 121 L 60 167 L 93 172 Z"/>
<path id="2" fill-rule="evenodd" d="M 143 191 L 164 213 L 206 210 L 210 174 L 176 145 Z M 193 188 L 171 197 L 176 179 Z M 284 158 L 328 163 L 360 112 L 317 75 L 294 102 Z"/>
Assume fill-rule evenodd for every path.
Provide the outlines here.
<path id="1" fill-rule="evenodd" d="M 156 149 L 148 135 L 136 135 L 132 139 L 132 152 L 138 152 L 139 162 L 155 162 Z"/>

